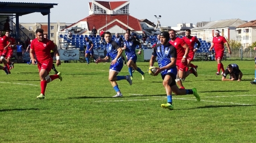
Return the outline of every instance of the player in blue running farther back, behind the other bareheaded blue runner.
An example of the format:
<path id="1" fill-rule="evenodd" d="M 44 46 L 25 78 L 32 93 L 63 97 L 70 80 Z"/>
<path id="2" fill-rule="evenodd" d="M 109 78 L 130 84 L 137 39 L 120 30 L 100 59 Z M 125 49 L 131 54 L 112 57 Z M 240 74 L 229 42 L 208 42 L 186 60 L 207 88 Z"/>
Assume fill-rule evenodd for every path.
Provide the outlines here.
<path id="1" fill-rule="evenodd" d="M 131 76 L 133 79 L 133 68 L 138 71 L 142 75 L 142 80 L 144 80 L 145 73 L 141 70 L 141 68 L 137 67 L 137 54 L 136 54 L 136 46 L 139 45 L 139 52 L 141 54 L 141 43 L 135 39 L 130 39 L 130 33 L 125 33 L 125 41 L 123 41 L 123 48 L 125 49 L 125 55 L 127 57 L 127 66 Z"/>

